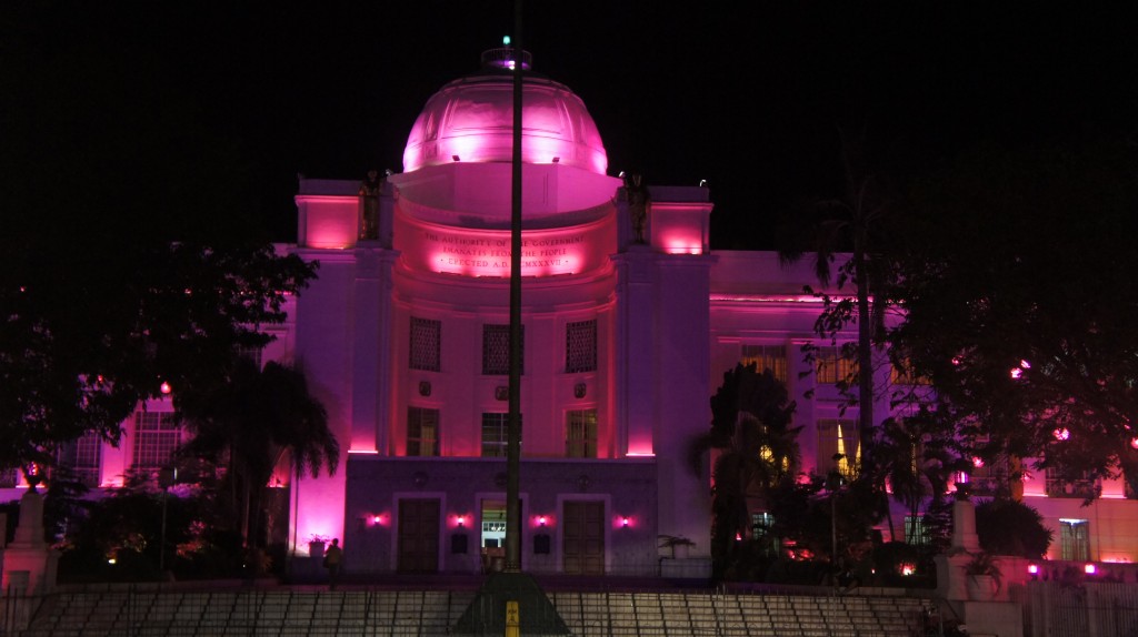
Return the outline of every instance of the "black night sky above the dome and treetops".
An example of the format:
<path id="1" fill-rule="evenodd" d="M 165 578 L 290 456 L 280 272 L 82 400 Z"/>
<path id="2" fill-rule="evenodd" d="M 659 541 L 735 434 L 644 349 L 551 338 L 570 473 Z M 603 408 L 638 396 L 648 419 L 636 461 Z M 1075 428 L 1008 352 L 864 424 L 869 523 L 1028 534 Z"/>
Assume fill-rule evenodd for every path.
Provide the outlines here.
<path id="1" fill-rule="evenodd" d="M 257 183 L 250 217 L 290 241 L 297 173 L 402 170 L 426 101 L 514 24 L 512 0 L 307 5 L 6 3 L 0 116 L 34 152 L 0 169 L 208 182 L 223 154 Z M 1135 133 L 1125 2 L 700 5 L 529 0 L 522 37 L 584 99 L 610 174 L 708 181 L 717 248 L 770 248 L 781 211 L 832 192 L 839 131 L 905 167 L 981 140 Z"/>

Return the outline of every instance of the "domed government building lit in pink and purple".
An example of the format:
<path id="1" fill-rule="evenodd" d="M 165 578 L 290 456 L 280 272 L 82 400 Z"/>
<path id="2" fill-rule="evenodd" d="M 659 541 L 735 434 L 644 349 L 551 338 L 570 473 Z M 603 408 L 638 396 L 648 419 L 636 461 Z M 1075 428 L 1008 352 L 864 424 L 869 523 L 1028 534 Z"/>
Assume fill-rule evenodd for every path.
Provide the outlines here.
<path id="1" fill-rule="evenodd" d="M 484 53 L 480 70 L 428 100 L 402 173 L 299 182 L 298 238 L 282 250 L 319 261 L 319 279 L 263 359 L 303 366 L 347 454 L 331 477 L 282 471 L 273 485 L 287 487 L 298 558 L 313 535 L 340 538 L 353 573 L 471 572 L 501 554 L 509 56 Z M 658 536 L 669 535 L 695 545 L 663 568 L 708 575 L 710 479 L 688 469 L 686 452 L 709 428 L 725 371 L 758 361 L 785 380 L 805 426 L 803 470 L 856 454 L 856 408 L 842 412 L 833 386 L 843 361 L 818 341 L 822 305 L 802 293 L 816 286 L 813 268 L 712 250 L 707 187 L 610 174 L 582 100 L 531 70 L 523 86 L 521 565 L 658 575 Z M 800 352 L 811 342 L 831 359 L 818 374 Z M 882 368 L 881 384 L 896 380 Z M 888 396 L 879 402 L 884 418 Z M 117 449 L 81 441 L 71 461 L 101 486 L 159 467 L 183 435 L 171 409 L 152 402 L 124 424 Z M 973 478 L 981 495 L 1001 479 L 983 471 Z M 8 483 L 2 494 L 18 497 L 18 478 Z M 1082 508 L 1088 486 L 1041 471 L 1025 481 L 1025 502 L 1055 531 L 1049 558 L 1133 561 L 1138 505 L 1119 480 Z M 900 538 L 905 512 L 893 506 Z"/>

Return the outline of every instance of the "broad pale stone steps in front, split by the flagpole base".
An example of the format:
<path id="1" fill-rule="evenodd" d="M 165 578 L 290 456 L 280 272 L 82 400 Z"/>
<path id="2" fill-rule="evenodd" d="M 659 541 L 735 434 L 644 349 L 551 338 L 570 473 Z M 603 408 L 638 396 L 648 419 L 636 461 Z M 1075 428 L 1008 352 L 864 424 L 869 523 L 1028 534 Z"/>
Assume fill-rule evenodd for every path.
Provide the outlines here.
<path id="1" fill-rule="evenodd" d="M 11 637 L 451 635 L 471 590 L 107 588 L 57 593 Z M 547 593 L 575 636 L 861 637 L 915 634 L 930 600 L 724 592 Z M 5 635 L 5 637 L 8 637 Z"/>

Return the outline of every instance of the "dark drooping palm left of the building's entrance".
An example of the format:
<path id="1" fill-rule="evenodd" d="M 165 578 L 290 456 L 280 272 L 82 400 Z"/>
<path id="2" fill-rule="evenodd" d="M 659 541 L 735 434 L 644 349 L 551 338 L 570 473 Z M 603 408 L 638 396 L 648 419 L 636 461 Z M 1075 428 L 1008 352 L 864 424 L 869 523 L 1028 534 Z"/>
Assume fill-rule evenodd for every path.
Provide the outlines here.
<path id="1" fill-rule="evenodd" d="M 193 439 L 185 452 L 228 467 L 234 509 L 247 548 L 263 546 L 261 518 L 265 487 L 288 455 L 296 475 L 336 472 L 339 443 L 328 412 L 312 394 L 300 369 L 269 362 L 262 369 L 241 358 L 231 374 L 205 388 L 178 396 Z"/>

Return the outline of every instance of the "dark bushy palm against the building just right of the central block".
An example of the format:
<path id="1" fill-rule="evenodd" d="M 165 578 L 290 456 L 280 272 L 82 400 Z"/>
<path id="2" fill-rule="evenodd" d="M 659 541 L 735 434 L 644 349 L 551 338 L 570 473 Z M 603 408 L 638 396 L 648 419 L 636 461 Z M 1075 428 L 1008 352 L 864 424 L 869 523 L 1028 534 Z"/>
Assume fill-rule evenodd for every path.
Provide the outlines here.
<path id="1" fill-rule="evenodd" d="M 736 535 L 748 535 L 752 503 L 768 500 L 798 470 L 795 438 L 802 428 L 791 426 L 795 408 L 774 372 L 760 374 L 753 362 L 724 374 L 711 397 L 711 428 L 692 441 L 688 458 L 702 475 L 703 454 L 720 452 L 711 470 L 711 554 L 719 570 L 731 561 Z"/>

